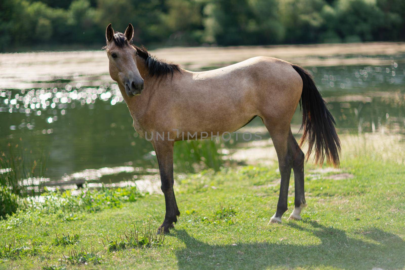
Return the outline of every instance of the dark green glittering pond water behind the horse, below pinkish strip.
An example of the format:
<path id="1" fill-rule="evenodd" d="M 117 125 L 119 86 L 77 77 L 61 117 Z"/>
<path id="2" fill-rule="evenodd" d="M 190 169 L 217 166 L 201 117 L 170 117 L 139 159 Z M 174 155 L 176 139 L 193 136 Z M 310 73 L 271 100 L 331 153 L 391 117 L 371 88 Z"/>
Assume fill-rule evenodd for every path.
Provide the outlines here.
<path id="1" fill-rule="evenodd" d="M 307 67 L 339 132 L 405 134 L 404 58 L 384 66 Z M 106 73 L 62 76 L 29 81 L 29 88 L 0 89 L 0 151 L 16 151 L 19 145 L 32 159 L 49 155 L 46 181 L 51 186 L 158 179 L 151 144 L 134 131 L 117 85 L 106 78 Z M 298 111 L 292 125 L 300 124 Z M 257 125 L 262 125 L 259 118 L 249 123 Z M 237 147 L 209 140 L 176 143 L 181 144 L 175 153 L 180 174 L 198 166 L 219 168 L 226 158 L 218 149 Z"/>

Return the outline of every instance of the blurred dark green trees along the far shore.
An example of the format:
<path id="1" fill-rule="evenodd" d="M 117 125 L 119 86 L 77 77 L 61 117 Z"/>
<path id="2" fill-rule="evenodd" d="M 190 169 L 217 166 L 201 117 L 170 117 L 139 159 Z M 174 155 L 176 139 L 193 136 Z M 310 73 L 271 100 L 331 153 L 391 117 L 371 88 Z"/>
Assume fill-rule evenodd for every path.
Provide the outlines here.
<path id="1" fill-rule="evenodd" d="M 108 23 L 148 46 L 404 40 L 405 1 L 2 0 L 0 51 L 99 46 Z"/>

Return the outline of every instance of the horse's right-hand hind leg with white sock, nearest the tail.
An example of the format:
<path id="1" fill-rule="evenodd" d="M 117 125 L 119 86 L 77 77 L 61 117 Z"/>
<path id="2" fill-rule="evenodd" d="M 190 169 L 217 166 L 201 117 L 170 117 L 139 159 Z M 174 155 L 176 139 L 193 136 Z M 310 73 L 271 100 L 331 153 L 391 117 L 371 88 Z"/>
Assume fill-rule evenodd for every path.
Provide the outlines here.
<path id="1" fill-rule="evenodd" d="M 288 219 L 301 219 L 301 210 L 307 203 L 305 202 L 304 191 L 304 160 L 305 155 L 299 147 L 294 136 L 292 136 L 291 130 L 288 136 L 288 144 L 292 150 L 292 170 L 294 170 L 294 185 L 295 185 L 295 208 L 292 211 Z"/>

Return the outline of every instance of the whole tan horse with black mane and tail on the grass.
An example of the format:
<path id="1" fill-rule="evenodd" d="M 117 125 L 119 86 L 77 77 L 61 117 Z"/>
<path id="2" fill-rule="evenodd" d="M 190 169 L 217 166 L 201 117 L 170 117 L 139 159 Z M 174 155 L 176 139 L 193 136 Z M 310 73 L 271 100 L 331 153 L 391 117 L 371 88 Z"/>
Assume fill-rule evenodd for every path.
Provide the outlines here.
<path id="1" fill-rule="evenodd" d="M 118 83 L 134 120 L 134 128 L 153 144 L 158 157 L 166 215 L 164 232 L 180 215 L 173 191 L 173 145 L 184 134 L 224 134 L 238 130 L 259 116 L 273 140 L 281 174 L 277 211 L 270 222 L 281 222 L 287 210 L 288 185 L 294 170 L 295 208 L 290 219 L 301 219 L 304 196 L 304 153 L 291 133 L 290 122 L 302 106 L 301 145 L 315 162 L 339 166 L 340 142 L 334 119 L 310 75 L 301 67 L 271 57 L 204 72 L 190 72 L 132 45 L 133 27 L 125 33 L 107 27 L 109 72 Z M 162 136 L 163 134 L 163 136 Z M 204 134 L 204 135 L 203 135 Z M 159 136 L 160 135 L 160 136 Z"/>

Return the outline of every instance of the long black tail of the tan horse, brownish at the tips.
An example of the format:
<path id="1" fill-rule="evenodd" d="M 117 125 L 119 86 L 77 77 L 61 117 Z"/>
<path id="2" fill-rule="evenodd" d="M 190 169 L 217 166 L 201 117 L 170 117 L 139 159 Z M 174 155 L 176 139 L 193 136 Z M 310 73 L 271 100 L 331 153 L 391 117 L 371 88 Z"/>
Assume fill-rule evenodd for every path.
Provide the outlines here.
<path id="1" fill-rule="evenodd" d="M 315 163 L 326 162 L 339 166 L 340 140 L 335 130 L 335 120 L 327 108 L 327 103 L 322 98 L 311 75 L 300 66 L 292 65 L 303 80 L 303 92 L 300 105 L 303 110 L 303 123 L 301 129 L 304 134 L 300 146 L 308 140 L 307 159 L 312 151 L 315 152 Z"/>

